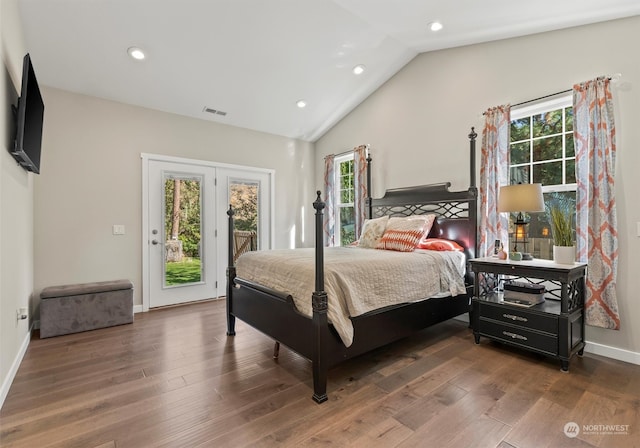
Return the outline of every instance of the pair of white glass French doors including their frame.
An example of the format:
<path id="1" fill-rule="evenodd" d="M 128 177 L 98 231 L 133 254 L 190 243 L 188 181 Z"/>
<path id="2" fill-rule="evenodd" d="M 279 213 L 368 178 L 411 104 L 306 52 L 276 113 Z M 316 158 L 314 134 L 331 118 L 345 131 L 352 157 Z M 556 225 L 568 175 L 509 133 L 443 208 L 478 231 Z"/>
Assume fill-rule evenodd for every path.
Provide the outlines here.
<path id="1" fill-rule="evenodd" d="M 224 295 L 226 211 L 250 250 L 271 248 L 273 171 L 142 157 L 143 310 Z"/>

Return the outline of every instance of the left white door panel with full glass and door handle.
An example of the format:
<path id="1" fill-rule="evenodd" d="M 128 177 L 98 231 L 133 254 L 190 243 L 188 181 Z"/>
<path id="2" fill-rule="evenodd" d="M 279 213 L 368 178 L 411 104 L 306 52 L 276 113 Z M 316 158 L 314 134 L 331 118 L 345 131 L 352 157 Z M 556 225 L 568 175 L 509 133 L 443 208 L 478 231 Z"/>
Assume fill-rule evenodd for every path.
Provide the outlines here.
<path id="1" fill-rule="evenodd" d="M 149 306 L 217 297 L 215 169 L 149 161 Z"/>

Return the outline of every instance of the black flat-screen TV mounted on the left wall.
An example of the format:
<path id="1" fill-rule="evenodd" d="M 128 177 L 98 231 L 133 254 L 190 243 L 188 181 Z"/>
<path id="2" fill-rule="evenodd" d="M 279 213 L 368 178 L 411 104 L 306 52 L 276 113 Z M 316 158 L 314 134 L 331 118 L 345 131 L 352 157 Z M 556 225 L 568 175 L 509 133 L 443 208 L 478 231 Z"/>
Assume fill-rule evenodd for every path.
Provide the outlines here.
<path id="1" fill-rule="evenodd" d="M 22 89 L 16 108 L 16 139 L 11 154 L 26 170 L 36 174 L 40 173 L 43 120 L 44 102 L 31 57 L 27 53 L 22 63 Z"/>

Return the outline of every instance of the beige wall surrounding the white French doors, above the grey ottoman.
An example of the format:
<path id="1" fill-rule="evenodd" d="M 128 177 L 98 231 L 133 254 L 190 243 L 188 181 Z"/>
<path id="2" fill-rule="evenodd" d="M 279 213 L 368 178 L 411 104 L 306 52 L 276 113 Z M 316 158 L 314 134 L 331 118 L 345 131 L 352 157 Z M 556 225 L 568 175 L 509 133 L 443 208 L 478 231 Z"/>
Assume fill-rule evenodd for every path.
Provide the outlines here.
<path id="1" fill-rule="evenodd" d="M 35 180 L 35 290 L 128 278 L 142 303 L 141 153 L 275 170 L 275 245 L 304 245 L 314 200 L 313 145 L 44 88 Z M 113 236 L 113 224 L 126 234 Z M 306 235 L 305 235 L 306 233 Z"/>

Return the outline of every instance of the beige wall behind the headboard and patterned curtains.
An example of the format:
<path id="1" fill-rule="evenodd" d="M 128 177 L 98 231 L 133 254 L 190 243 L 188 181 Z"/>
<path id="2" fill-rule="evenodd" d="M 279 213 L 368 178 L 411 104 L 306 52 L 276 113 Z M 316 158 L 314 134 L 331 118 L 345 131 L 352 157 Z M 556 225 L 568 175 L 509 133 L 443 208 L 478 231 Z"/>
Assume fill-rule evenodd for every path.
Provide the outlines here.
<path id="1" fill-rule="evenodd" d="M 599 75 L 622 73 L 617 105 L 616 196 L 618 300 L 621 330 L 587 327 L 588 348 L 613 347 L 640 362 L 640 17 L 418 55 L 316 142 L 316 183 L 322 159 L 371 144 L 374 193 L 451 181 L 469 183 L 469 128 L 482 129 L 488 107 L 570 89 Z M 579 49 L 576 55 L 572 50 Z M 583 54 L 593 56 L 582 56 Z M 478 136 L 478 160 L 481 136 Z M 479 167 L 479 163 L 478 163 Z M 478 174 L 479 176 L 479 174 Z"/>

